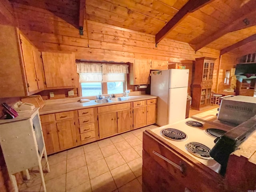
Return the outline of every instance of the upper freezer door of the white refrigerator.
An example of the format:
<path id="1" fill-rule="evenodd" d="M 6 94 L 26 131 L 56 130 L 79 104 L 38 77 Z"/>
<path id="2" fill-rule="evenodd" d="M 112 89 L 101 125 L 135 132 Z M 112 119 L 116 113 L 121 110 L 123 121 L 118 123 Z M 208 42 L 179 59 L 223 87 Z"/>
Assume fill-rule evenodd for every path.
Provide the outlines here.
<path id="1" fill-rule="evenodd" d="M 188 69 L 171 69 L 169 88 L 188 86 Z"/>

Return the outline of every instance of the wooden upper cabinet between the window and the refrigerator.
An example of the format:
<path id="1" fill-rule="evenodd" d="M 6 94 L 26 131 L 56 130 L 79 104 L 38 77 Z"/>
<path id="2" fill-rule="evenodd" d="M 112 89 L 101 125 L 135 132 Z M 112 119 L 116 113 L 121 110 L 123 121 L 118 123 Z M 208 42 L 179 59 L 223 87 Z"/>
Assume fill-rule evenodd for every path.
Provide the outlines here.
<path id="1" fill-rule="evenodd" d="M 150 60 L 135 59 L 130 64 L 130 85 L 149 84 Z"/>

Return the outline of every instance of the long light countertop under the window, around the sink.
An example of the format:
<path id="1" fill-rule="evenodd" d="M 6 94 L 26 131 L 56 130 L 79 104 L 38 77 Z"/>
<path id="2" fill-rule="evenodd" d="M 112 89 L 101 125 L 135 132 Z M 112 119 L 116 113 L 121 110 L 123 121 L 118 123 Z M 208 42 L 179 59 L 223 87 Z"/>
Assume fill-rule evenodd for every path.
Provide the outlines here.
<path id="1" fill-rule="evenodd" d="M 90 100 L 89 102 L 83 102 L 83 103 L 78 102 L 78 100 L 83 99 L 83 97 L 46 100 L 45 106 L 39 110 L 39 113 L 40 115 L 44 115 L 44 114 L 50 114 L 50 113 L 56 113 L 56 112 L 64 112 L 64 111 L 78 110 L 78 109 L 84 109 L 84 108 L 154 99 L 157 97 L 152 95 L 139 94 L 139 95 L 124 97 L 124 98 L 127 98 L 127 100 L 118 101 L 118 102 L 109 102 L 109 103 L 103 103 L 103 104 L 96 104 L 93 100 Z"/>

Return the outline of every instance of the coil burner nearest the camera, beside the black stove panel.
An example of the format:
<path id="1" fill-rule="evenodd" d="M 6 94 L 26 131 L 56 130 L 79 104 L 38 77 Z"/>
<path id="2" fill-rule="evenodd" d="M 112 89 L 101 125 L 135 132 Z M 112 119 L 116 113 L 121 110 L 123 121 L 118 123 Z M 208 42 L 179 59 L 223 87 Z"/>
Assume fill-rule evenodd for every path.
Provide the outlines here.
<path id="1" fill-rule="evenodd" d="M 212 159 L 210 156 L 210 148 L 205 146 L 204 144 L 198 142 L 190 142 L 185 146 L 186 150 L 193 154 L 196 157 L 202 159 Z"/>

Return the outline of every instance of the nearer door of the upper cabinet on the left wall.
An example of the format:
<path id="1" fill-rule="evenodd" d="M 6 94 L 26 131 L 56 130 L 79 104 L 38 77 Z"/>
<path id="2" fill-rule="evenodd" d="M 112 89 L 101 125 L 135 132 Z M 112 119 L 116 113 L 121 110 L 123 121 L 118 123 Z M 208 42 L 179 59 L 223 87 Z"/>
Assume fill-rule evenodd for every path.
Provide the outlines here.
<path id="1" fill-rule="evenodd" d="M 38 90 L 36 70 L 33 57 L 33 46 L 20 34 L 22 57 L 26 73 L 28 92 Z"/>

